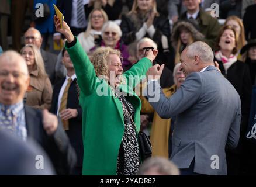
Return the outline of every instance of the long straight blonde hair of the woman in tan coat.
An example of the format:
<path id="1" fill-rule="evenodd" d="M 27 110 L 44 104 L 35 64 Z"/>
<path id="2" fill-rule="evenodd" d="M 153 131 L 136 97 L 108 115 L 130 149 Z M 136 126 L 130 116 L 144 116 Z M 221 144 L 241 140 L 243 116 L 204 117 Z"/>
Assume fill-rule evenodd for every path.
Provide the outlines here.
<path id="1" fill-rule="evenodd" d="M 41 56 L 41 52 L 34 44 L 26 44 L 26 46 L 22 47 L 20 53 L 22 54 L 23 50 L 26 47 L 30 47 L 34 53 L 34 64 L 36 65 L 36 69 L 38 70 L 39 77 L 46 77 L 46 69 L 44 68 L 43 57 Z"/>

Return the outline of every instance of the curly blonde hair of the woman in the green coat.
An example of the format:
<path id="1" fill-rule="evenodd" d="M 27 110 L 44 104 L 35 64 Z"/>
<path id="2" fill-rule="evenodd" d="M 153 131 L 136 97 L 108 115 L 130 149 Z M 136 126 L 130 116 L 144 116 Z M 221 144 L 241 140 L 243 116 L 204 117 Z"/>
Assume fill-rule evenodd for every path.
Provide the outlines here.
<path id="1" fill-rule="evenodd" d="M 108 56 L 109 54 L 116 54 L 123 61 L 123 57 L 119 50 L 112 49 L 111 47 L 99 47 L 92 53 L 90 58 L 92 65 L 94 65 L 96 75 L 103 76 L 104 79 L 108 77 Z"/>

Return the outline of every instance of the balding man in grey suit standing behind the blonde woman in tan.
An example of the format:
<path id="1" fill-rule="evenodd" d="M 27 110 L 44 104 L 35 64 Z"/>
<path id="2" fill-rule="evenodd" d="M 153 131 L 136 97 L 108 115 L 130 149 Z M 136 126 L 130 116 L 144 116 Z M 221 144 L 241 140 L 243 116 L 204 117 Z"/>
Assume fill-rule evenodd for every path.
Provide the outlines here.
<path id="1" fill-rule="evenodd" d="M 41 37 L 41 33 L 39 30 L 30 27 L 24 34 L 24 43 L 25 44 L 34 44 L 41 51 L 41 56 L 44 60 L 44 67 L 46 68 L 46 73 L 51 81 L 51 85 L 54 85 L 56 82 L 56 62 L 57 55 L 53 53 L 49 53 L 41 49 L 41 44 L 43 43 L 43 37 Z"/>

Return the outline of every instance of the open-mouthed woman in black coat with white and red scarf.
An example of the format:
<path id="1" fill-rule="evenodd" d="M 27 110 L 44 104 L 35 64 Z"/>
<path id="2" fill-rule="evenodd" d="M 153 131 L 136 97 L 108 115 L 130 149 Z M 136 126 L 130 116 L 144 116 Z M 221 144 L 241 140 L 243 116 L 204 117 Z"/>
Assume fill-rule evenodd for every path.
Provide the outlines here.
<path id="1" fill-rule="evenodd" d="M 241 98 L 240 141 L 235 150 L 226 150 L 228 175 L 243 174 L 245 132 L 251 104 L 251 77 L 248 65 L 237 60 L 237 34 L 231 26 L 220 29 L 217 37 L 215 60 L 222 74 L 231 82 Z M 213 80 L 214 81 L 214 80 Z"/>

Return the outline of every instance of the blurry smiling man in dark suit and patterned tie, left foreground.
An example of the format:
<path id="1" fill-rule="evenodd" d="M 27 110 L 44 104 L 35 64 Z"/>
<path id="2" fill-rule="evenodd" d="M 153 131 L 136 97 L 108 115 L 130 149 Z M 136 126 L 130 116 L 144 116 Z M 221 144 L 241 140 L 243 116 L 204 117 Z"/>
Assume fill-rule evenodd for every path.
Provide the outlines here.
<path id="1" fill-rule="evenodd" d="M 57 117 L 23 103 L 29 81 L 26 61 L 20 54 L 6 51 L 0 56 L 0 128 L 20 141 L 32 138 L 46 151 L 57 174 L 70 174 L 75 152 Z"/>

